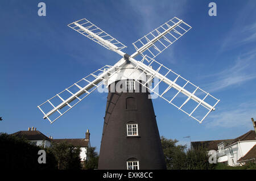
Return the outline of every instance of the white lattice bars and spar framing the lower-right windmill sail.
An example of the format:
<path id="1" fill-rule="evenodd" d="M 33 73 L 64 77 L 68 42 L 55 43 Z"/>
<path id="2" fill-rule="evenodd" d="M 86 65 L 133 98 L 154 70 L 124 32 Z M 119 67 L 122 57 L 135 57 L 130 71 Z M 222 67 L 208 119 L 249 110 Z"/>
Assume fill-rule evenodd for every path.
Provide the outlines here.
<path id="1" fill-rule="evenodd" d="M 173 106 L 175 106 L 176 108 L 178 108 L 178 110 L 186 113 L 189 117 L 192 117 L 193 119 L 195 119 L 199 123 L 202 123 L 202 121 L 205 119 L 205 117 L 207 117 L 208 114 L 211 111 L 214 111 L 216 105 L 218 104 L 218 102 L 220 102 L 219 99 L 217 99 L 214 96 L 210 95 L 209 92 L 206 92 L 203 89 L 200 89 L 200 87 L 194 85 L 193 83 L 191 83 L 187 79 L 181 77 L 180 74 L 175 73 L 173 70 L 167 68 L 163 64 L 160 64 L 158 61 L 156 61 L 154 59 L 150 59 L 151 61 L 148 62 L 148 65 L 143 63 L 143 61 L 146 60 L 146 57 L 143 58 L 142 61 L 137 61 L 137 60 L 135 60 L 132 57 L 130 57 L 129 60 L 131 62 L 133 62 L 133 64 L 135 65 L 134 71 L 137 70 L 137 69 L 141 69 L 142 70 L 142 74 L 146 73 L 146 74 L 150 75 L 150 77 L 148 78 L 147 82 L 139 81 L 139 77 L 141 75 L 139 75 L 138 78 L 135 79 L 135 81 L 137 81 L 142 86 L 147 87 L 148 90 L 150 90 L 151 92 L 154 92 L 160 98 L 166 100 L 168 103 L 170 103 Z M 156 64 L 156 68 L 153 69 L 151 65 L 154 64 L 154 63 Z M 161 69 L 165 70 L 166 73 L 164 75 L 159 73 L 159 71 Z M 170 74 L 172 74 L 171 77 L 174 77 L 173 81 L 170 78 L 168 78 L 168 75 L 170 75 Z M 152 81 L 152 79 L 154 79 L 154 78 L 158 78 L 160 81 L 158 83 L 156 83 L 156 85 L 154 85 L 152 87 L 148 86 L 148 82 Z M 179 83 L 177 83 L 178 79 L 182 79 L 183 80 L 183 82 L 184 82 L 183 85 L 179 85 Z M 161 82 L 165 83 L 168 86 L 162 92 L 159 92 L 159 90 L 155 91 L 155 89 L 159 86 L 159 84 Z M 189 92 L 188 90 L 186 90 L 185 89 L 186 86 L 187 87 L 188 86 L 194 87 L 193 91 Z M 170 91 L 171 88 L 177 90 L 177 92 L 176 92 L 176 94 L 174 96 L 171 96 L 171 99 L 168 99 L 164 95 L 167 94 L 167 92 Z M 197 95 L 195 95 L 198 92 L 200 92 L 201 94 L 202 93 L 204 94 L 203 99 L 201 99 Z M 180 95 L 180 93 L 182 93 L 183 95 L 187 96 L 187 99 L 185 99 L 182 102 L 182 104 L 180 104 L 180 106 L 177 106 L 174 103 L 174 100 L 177 99 L 177 97 Z M 207 98 L 211 98 L 212 99 L 212 105 L 210 105 L 209 103 L 207 103 L 205 101 L 205 99 L 207 99 Z M 191 112 L 188 112 L 188 111 L 183 109 L 183 107 L 185 106 L 185 104 L 187 104 L 189 102 L 189 100 L 193 100 L 194 102 L 197 103 Z M 193 113 L 195 113 L 195 111 L 197 109 L 201 108 L 201 107 L 205 108 L 207 110 L 207 112 L 205 113 L 205 115 L 203 117 L 201 117 L 199 119 L 196 116 L 193 116 Z"/>

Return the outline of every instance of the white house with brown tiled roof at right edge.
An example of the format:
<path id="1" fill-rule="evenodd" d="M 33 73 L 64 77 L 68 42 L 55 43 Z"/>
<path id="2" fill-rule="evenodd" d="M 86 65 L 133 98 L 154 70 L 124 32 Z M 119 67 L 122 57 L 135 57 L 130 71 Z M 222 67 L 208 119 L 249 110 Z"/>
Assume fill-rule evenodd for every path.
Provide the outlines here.
<path id="1" fill-rule="evenodd" d="M 240 137 L 229 140 L 193 141 L 191 148 L 203 147 L 209 154 L 217 156 L 217 162 L 229 166 L 243 165 L 256 158 L 256 133 L 249 131 Z"/>

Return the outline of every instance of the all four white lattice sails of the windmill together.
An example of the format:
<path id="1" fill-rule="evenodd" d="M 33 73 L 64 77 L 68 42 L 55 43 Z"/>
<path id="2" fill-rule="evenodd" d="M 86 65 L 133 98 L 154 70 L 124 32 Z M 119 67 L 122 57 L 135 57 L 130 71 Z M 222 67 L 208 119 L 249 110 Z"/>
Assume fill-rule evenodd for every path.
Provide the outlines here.
<path id="1" fill-rule="evenodd" d="M 87 19 L 78 20 L 68 24 L 68 26 L 103 47 L 113 50 L 121 55 L 122 58 L 115 65 L 106 65 L 103 68 L 98 69 L 94 73 L 88 75 L 90 78 L 82 78 L 79 82 L 74 83 L 64 91 L 53 96 L 53 98 L 47 100 L 43 104 L 40 104 L 38 108 L 43 112 L 44 119 L 48 119 L 51 123 L 76 106 L 77 103 L 96 90 L 98 86 L 101 86 L 104 82 L 108 82 L 111 78 L 115 77 L 116 74 L 120 73 L 122 67 L 126 65 L 127 62 L 134 66 L 132 73 L 137 70 L 141 72 L 139 76 L 133 77 L 134 81 L 147 87 L 148 90 L 159 95 L 160 98 L 163 98 L 168 103 L 174 105 L 189 117 L 199 121 L 199 123 L 201 123 L 211 111 L 215 110 L 215 106 L 220 101 L 155 60 L 155 57 L 158 56 L 158 54 L 162 53 L 164 49 L 168 48 L 191 29 L 191 26 L 183 22 L 183 20 L 176 17 L 172 18 L 162 26 L 156 28 L 154 31 L 143 36 L 138 41 L 135 41 L 133 45 L 136 52 L 131 54 L 131 56 L 122 52 L 122 49 L 126 48 L 125 45 L 117 39 L 114 39 L 105 31 L 102 31 Z M 141 61 L 135 60 L 135 57 L 139 54 L 142 56 Z M 97 73 L 101 74 L 98 75 Z M 130 79 L 129 76 L 132 73 L 126 75 L 126 79 Z M 142 74 L 146 74 L 148 77 L 144 82 L 140 81 Z M 154 78 L 158 78 L 160 81 L 151 87 L 150 83 L 152 83 L 152 79 Z M 156 88 L 160 87 L 161 84 L 164 84 L 164 86 L 167 87 L 164 88 L 162 92 L 156 91 Z M 189 89 L 187 87 L 189 87 Z M 171 90 L 175 90 L 176 92 L 172 92 L 173 95 L 170 95 L 171 93 L 168 94 L 168 92 Z M 182 97 L 178 96 L 180 93 L 185 95 L 185 100 L 181 102 L 179 100 L 175 103 L 176 99 L 180 99 L 180 97 Z M 63 94 L 65 94 L 65 96 L 62 96 Z M 55 101 L 55 99 L 59 100 Z M 209 102 L 207 102 L 207 99 L 210 99 Z M 191 103 L 189 107 L 190 111 L 183 109 L 183 107 L 191 101 L 193 101 L 193 103 Z M 46 106 L 46 104 L 48 105 Z M 65 110 L 64 108 L 66 106 L 68 109 Z M 191 109 L 192 106 L 193 108 Z M 202 111 L 202 108 L 207 111 Z M 195 113 L 197 109 L 200 111 L 199 113 L 196 113 L 196 116 L 194 116 L 193 113 Z M 203 116 L 201 116 L 202 114 Z M 53 116 L 53 119 L 50 119 L 50 116 Z"/>

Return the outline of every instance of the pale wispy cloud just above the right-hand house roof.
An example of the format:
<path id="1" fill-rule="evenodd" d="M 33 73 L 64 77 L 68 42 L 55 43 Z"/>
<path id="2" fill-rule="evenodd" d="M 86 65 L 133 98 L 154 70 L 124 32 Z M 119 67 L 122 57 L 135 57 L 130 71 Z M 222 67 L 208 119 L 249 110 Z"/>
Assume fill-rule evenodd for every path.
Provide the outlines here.
<path id="1" fill-rule="evenodd" d="M 256 116 L 255 103 L 242 103 L 234 107 L 221 108 L 218 113 L 209 115 L 207 127 L 246 127 L 251 128 L 251 117 Z"/>

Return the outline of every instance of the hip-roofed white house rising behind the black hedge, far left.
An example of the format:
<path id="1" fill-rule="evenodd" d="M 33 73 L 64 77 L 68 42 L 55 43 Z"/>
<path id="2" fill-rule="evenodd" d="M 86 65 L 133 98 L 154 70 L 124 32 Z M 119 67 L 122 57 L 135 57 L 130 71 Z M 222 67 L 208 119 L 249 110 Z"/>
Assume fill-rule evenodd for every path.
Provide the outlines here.
<path id="1" fill-rule="evenodd" d="M 18 136 L 18 137 L 24 137 L 28 141 L 30 141 L 30 143 L 32 145 L 36 145 L 36 146 L 43 145 L 44 148 L 52 146 L 51 139 L 48 138 L 43 133 L 41 133 L 40 131 L 36 131 L 36 128 L 34 128 L 34 127 L 28 128 L 28 131 L 18 131 L 11 135 Z"/>

